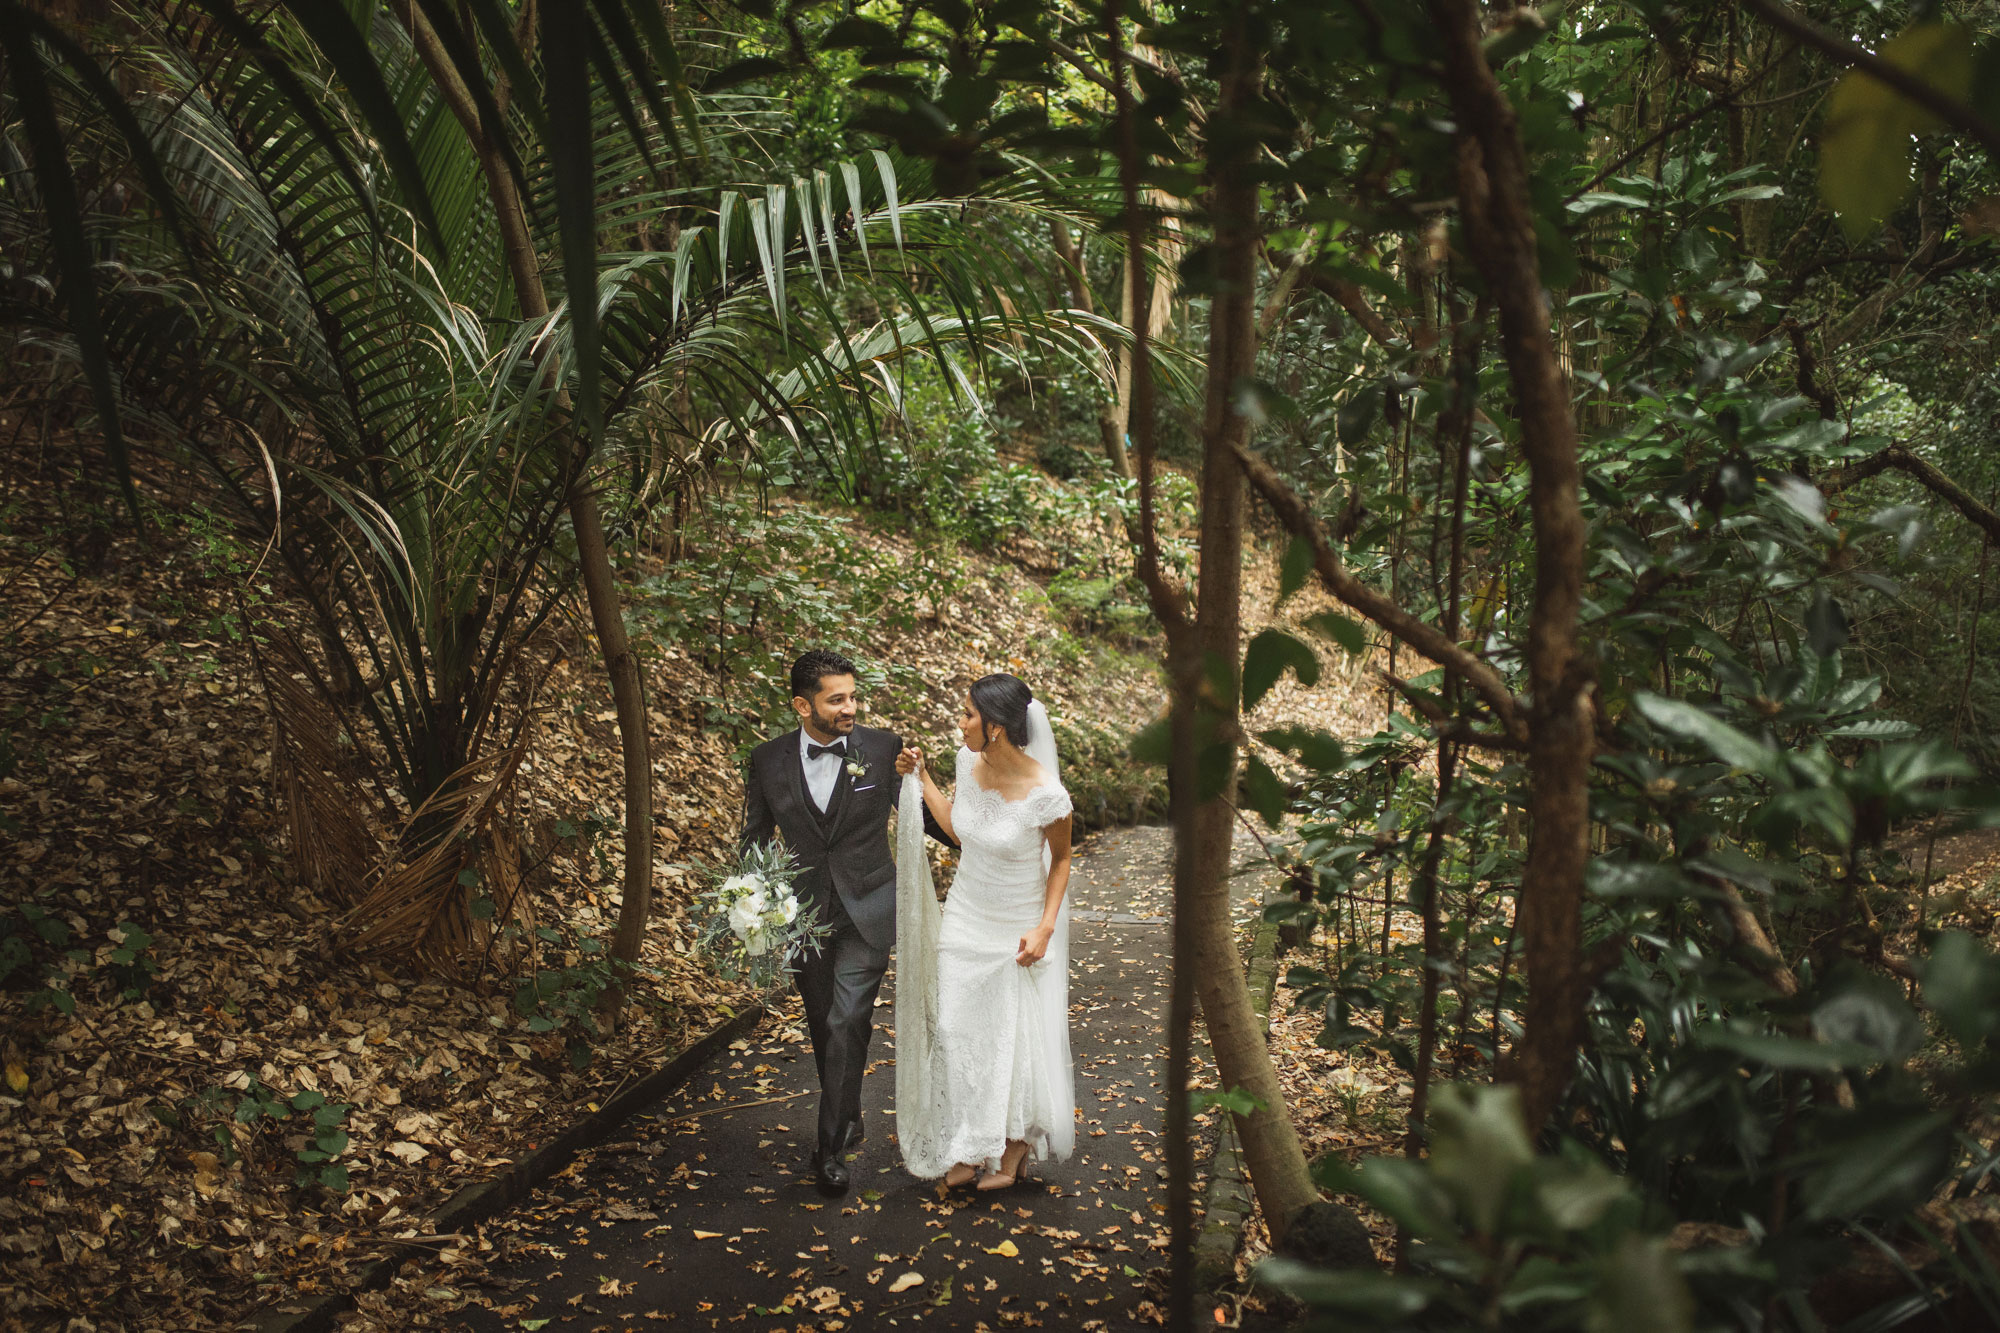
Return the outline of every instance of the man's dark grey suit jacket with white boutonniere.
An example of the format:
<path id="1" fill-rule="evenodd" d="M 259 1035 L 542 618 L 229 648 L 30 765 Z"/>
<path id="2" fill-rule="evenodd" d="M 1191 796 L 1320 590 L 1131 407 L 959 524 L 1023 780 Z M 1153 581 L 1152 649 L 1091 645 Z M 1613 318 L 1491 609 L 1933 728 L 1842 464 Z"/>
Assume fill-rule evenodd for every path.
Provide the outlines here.
<path id="1" fill-rule="evenodd" d="M 806 795 L 798 729 L 756 747 L 744 781 L 742 845 L 782 835 L 800 865 L 794 881 L 800 903 L 824 919 L 828 895 L 838 893 L 860 937 L 884 951 L 896 943 L 896 863 L 888 851 L 888 817 L 902 793 L 896 773 L 900 753 L 896 733 L 856 727 L 848 735 L 848 763 L 858 759 L 866 773 L 852 777 L 848 765 L 840 765 L 824 823 Z M 924 823 L 930 823 L 928 811 Z"/>

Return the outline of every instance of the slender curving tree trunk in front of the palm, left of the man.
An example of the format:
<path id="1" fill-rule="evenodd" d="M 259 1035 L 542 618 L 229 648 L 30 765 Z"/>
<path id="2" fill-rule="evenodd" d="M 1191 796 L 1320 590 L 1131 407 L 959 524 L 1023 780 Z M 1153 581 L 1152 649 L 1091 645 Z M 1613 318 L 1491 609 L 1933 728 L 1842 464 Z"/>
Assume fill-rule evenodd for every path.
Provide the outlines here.
<path id="1" fill-rule="evenodd" d="M 480 124 L 472 94 L 458 78 L 458 68 L 444 52 L 444 44 L 422 10 L 404 0 L 402 20 L 424 68 L 438 84 L 480 160 L 486 194 L 500 226 L 500 248 L 506 256 L 508 276 L 514 278 L 516 306 L 526 320 L 548 318 L 548 290 L 542 286 L 542 266 L 534 252 L 528 212 L 514 186 L 514 174 L 508 170 L 500 146 Z M 618 576 L 604 540 L 598 496 L 588 480 L 590 444 L 574 440 L 572 448 L 570 524 L 576 530 L 576 564 L 590 602 L 590 622 L 598 634 L 604 671 L 610 677 L 612 705 L 618 711 L 618 749 L 624 755 L 624 901 L 618 907 L 612 959 L 630 965 L 638 963 L 640 945 L 646 939 L 646 919 L 652 913 L 652 737 L 646 731 L 646 691 L 638 658 L 632 654 L 632 640 L 624 628 L 624 608 L 618 602 Z M 622 999 L 622 987 L 614 987 L 608 999 L 616 1007 Z"/>

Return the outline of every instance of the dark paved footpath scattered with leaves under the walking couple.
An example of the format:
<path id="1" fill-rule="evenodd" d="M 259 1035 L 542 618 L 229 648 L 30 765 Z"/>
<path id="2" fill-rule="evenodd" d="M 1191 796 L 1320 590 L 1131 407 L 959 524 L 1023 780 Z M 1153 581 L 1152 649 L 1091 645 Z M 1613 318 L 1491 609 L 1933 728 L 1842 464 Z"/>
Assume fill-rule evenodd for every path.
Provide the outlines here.
<path id="1" fill-rule="evenodd" d="M 1252 841 L 1240 855 L 1256 851 Z M 484 1229 L 484 1283 L 402 1285 L 428 1327 L 1128 1329 L 1166 1263 L 1160 1151 L 1168 955 L 1166 829 L 1088 839 L 1072 877 L 1078 1151 L 988 1195 L 940 1197 L 902 1169 L 884 985 L 854 1191 L 808 1171 L 818 1097 L 798 999 L 688 1087 Z M 1262 877 L 1238 879 L 1238 913 Z M 890 973 L 890 983 L 894 973 Z M 472 1303 L 466 1303 L 466 1301 Z M 458 1307 L 458 1309 L 454 1309 Z M 412 1311 L 414 1313 L 414 1311 Z"/>

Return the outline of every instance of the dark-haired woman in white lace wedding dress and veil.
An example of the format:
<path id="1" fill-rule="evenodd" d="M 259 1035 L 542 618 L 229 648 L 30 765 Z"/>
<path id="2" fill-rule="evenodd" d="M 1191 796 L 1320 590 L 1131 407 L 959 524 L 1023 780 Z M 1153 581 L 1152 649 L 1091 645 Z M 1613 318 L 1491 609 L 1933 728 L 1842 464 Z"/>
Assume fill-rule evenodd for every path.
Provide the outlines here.
<path id="1" fill-rule="evenodd" d="M 1070 795 L 1016 677 L 976 681 L 958 731 L 950 799 L 918 749 L 896 761 L 896 1143 L 912 1175 L 1006 1189 L 1076 1145 Z M 942 911 L 918 801 L 962 847 Z"/>

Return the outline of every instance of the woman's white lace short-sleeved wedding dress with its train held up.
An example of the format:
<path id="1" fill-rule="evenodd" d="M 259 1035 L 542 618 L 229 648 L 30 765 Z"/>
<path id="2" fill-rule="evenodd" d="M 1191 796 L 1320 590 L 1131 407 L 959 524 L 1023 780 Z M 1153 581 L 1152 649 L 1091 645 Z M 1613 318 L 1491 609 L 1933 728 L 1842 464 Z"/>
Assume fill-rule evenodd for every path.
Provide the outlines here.
<path id="1" fill-rule="evenodd" d="M 1036 727 L 1040 723 L 1040 727 Z M 1046 715 L 1030 735 L 1046 735 Z M 1030 747 L 1036 753 L 1042 747 Z M 952 833 L 962 847 L 938 909 L 924 859 L 922 787 L 904 779 L 896 829 L 896 1143 L 912 1175 L 954 1163 L 998 1169 L 1008 1139 L 1036 1161 L 1076 1147 L 1070 1069 L 1068 895 L 1048 953 L 1014 961 L 1042 921 L 1048 825 L 1070 813 L 1054 743 L 1036 755 L 1050 781 L 1020 801 L 980 787 L 978 757 L 958 751 Z"/>

